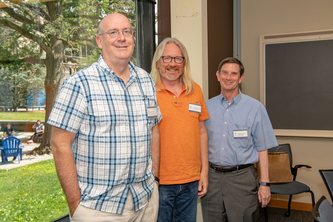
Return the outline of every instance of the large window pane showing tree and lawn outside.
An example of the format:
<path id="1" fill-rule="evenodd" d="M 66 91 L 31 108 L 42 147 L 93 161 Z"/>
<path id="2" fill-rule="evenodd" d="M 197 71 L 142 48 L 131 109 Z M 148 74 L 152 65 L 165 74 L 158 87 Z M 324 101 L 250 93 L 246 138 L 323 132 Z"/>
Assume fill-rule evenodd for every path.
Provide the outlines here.
<path id="1" fill-rule="evenodd" d="M 0 2 L 0 130 L 1 136 L 4 131 L 8 135 L 13 127 L 24 146 L 20 164 L 12 156 L 5 165 L 0 163 L 1 220 L 52 221 L 68 214 L 45 119 L 64 79 L 101 55 L 96 35 L 103 17 L 112 12 L 126 15 L 136 41 L 135 7 L 135 0 Z M 131 59 L 135 65 L 136 52 Z M 39 127 L 37 120 L 45 130 L 28 144 Z"/>

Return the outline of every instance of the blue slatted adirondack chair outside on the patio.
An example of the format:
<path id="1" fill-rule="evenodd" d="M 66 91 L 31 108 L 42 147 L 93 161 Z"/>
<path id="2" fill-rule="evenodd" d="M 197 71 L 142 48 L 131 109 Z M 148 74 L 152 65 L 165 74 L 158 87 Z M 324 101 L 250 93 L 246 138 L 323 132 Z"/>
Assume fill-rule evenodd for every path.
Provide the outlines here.
<path id="1" fill-rule="evenodd" d="M 9 156 L 17 156 L 20 163 L 20 139 L 15 136 L 8 136 L 2 141 L 3 150 L 1 150 L 1 158 L 3 165 L 5 165 L 6 158 Z"/>

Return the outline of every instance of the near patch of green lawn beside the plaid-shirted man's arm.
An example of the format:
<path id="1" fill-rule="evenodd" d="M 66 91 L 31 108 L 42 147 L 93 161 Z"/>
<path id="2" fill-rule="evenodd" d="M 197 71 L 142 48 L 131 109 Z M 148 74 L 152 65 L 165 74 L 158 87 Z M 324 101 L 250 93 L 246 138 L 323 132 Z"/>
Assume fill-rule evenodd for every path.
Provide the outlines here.
<path id="1" fill-rule="evenodd" d="M 52 221 L 68 214 L 54 160 L 0 170 L 0 221 Z"/>

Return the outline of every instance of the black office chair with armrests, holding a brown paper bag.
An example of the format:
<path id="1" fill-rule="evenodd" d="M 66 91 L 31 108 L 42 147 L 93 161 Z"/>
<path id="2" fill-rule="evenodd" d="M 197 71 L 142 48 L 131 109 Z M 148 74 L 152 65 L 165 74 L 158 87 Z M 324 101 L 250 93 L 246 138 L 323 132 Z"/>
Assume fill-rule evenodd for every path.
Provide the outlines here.
<path id="1" fill-rule="evenodd" d="M 311 197 L 312 197 L 312 206 L 314 206 L 315 201 L 314 201 L 314 194 L 313 192 L 310 190 L 310 187 L 305 185 L 304 183 L 300 183 L 296 180 L 296 175 L 297 175 L 297 169 L 305 166 L 306 168 L 311 168 L 311 166 L 308 165 L 296 165 L 294 167 L 292 167 L 292 154 L 291 154 L 291 148 L 290 148 L 290 144 L 282 144 L 282 145 L 278 145 L 276 147 L 272 147 L 270 149 L 268 149 L 268 152 L 275 152 L 276 148 L 282 146 L 282 152 L 287 152 L 289 154 L 289 162 L 290 162 L 290 169 L 291 169 L 291 174 L 294 176 L 293 177 L 293 181 L 291 183 L 279 183 L 279 184 L 271 184 L 270 186 L 270 192 L 271 194 L 284 194 L 284 195 L 289 195 L 289 202 L 288 202 L 288 212 L 284 213 L 284 216 L 289 217 L 290 216 L 290 204 L 291 204 L 291 198 L 292 195 L 295 194 L 300 194 L 300 193 L 304 193 L 304 192 L 310 192 L 311 193 Z M 279 149 L 280 151 L 280 149 Z M 264 213 L 265 213 L 265 221 L 268 221 L 268 217 L 267 217 L 267 209 L 266 207 L 264 208 Z"/>

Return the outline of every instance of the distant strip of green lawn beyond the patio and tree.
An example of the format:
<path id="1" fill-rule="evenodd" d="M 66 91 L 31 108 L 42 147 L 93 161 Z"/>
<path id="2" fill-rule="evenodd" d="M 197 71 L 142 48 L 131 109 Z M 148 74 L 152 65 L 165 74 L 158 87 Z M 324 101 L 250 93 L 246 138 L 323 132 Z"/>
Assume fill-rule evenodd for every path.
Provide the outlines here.
<path id="1" fill-rule="evenodd" d="M 0 112 L 0 120 L 45 120 L 45 111 Z"/>

